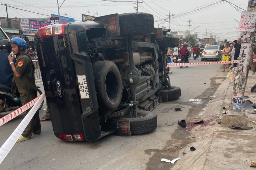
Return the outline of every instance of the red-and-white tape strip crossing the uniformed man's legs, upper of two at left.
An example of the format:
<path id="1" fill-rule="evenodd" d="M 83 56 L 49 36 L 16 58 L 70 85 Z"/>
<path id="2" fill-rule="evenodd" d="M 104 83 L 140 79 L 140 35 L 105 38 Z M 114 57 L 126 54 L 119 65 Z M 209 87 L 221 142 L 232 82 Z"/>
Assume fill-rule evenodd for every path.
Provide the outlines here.
<path id="1" fill-rule="evenodd" d="M 34 100 L 28 102 L 27 104 L 21 106 L 20 108 L 14 110 L 13 112 L 9 113 L 8 115 L 5 115 L 4 117 L 0 118 L 0 126 L 5 124 L 6 122 L 9 122 L 13 118 L 17 117 L 24 111 L 28 110 L 30 107 L 34 106 L 36 101 L 38 101 L 40 96 L 36 97 Z"/>

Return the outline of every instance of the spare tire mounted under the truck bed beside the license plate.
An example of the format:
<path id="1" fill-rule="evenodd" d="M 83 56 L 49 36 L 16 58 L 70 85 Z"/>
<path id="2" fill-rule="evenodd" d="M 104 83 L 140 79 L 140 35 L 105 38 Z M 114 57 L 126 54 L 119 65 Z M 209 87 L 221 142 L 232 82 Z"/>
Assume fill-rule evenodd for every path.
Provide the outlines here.
<path id="1" fill-rule="evenodd" d="M 92 65 L 99 107 L 115 110 L 121 102 L 123 83 L 112 61 L 98 61 Z"/>

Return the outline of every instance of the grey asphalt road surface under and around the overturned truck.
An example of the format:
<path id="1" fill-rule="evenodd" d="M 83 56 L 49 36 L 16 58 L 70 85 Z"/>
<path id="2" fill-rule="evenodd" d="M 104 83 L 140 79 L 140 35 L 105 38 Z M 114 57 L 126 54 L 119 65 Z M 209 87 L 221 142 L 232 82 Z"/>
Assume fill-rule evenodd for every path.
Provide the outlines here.
<path id="1" fill-rule="evenodd" d="M 190 62 L 202 61 L 201 58 L 195 61 L 191 58 Z M 158 127 L 151 133 L 131 137 L 109 135 L 95 142 L 64 142 L 54 136 L 51 121 L 41 122 L 41 134 L 16 143 L 3 160 L 0 169 L 149 169 L 155 166 L 159 169 L 169 169 L 170 167 L 159 159 L 172 160 L 175 155 L 170 153 L 166 157 L 166 154 L 158 151 L 165 149 L 166 144 L 172 141 L 180 129 L 177 121 L 186 118 L 188 109 L 197 107 L 195 103 L 189 102 L 189 99 L 205 92 L 210 87 L 210 78 L 217 75 L 221 69 L 222 65 L 171 68 L 171 84 L 181 88 L 181 97 L 175 101 L 163 102 L 153 110 L 157 114 Z M 42 87 L 42 83 L 38 85 Z M 176 106 L 181 106 L 183 110 L 170 110 Z M 43 108 L 46 108 L 45 101 Z M 40 117 L 45 114 L 43 108 L 39 111 Z M 20 115 L 0 127 L 0 146 L 22 119 L 23 115 Z M 167 121 L 175 124 L 166 126 Z M 155 153 L 159 156 L 155 156 Z"/>

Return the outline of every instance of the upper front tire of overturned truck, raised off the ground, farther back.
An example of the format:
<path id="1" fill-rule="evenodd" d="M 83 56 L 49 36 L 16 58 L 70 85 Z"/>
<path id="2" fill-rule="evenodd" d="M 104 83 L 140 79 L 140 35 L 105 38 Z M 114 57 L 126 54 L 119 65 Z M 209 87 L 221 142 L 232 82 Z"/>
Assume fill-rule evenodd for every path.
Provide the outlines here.
<path id="1" fill-rule="evenodd" d="M 179 37 L 174 35 L 163 35 L 163 40 L 157 42 L 161 48 L 174 48 L 179 45 Z"/>

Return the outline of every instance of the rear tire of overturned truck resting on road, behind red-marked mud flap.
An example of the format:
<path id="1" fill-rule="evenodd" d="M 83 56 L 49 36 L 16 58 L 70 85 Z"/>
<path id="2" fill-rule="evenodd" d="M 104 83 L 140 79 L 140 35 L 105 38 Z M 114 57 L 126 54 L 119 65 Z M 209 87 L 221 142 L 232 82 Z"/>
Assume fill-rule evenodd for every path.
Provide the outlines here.
<path id="1" fill-rule="evenodd" d="M 138 110 L 138 118 L 124 115 L 120 119 L 130 120 L 131 134 L 143 134 L 152 132 L 157 128 L 157 115 L 151 111 Z"/>

